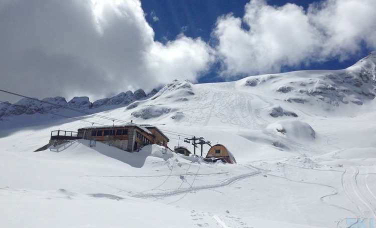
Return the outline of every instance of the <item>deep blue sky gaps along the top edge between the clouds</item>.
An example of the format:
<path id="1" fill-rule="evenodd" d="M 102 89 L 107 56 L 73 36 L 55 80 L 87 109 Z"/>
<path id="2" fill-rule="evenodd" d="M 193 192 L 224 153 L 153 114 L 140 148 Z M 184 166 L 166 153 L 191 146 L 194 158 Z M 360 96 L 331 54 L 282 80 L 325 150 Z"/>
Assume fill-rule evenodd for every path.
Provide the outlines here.
<path id="1" fill-rule="evenodd" d="M 190 37 L 202 37 L 209 41 L 210 33 L 219 16 L 233 13 L 244 15 L 249 0 L 141 0 L 147 13 L 146 19 L 155 31 L 155 39 L 161 42 L 174 39 L 184 30 Z M 307 9 L 312 0 L 269 0 L 271 5 L 282 6 L 295 3 Z M 158 20 L 154 20 L 158 17 Z"/>

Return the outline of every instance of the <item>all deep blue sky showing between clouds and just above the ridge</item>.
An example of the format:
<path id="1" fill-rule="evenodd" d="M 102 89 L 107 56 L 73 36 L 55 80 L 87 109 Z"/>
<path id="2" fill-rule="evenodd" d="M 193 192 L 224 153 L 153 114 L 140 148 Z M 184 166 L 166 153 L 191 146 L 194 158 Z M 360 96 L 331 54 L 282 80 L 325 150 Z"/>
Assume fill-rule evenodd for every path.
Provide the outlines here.
<path id="1" fill-rule="evenodd" d="M 231 13 L 235 17 L 244 15 L 244 6 L 249 0 L 141 0 L 142 8 L 147 16 L 145 17 L 155 32 L 155 39 L 166 42 L 176 38 L 180 33 L 186 36 L 201 37 L 205 42 L 215 42 L 211 32 L 218 17 Z M 281 7 L 286 3 L 296 4 L 306 11 L 309 4 L 314 0 L 267 0 L 272 6 Z M 287 72 L 304 69 L 343 69 L 359 58 L 365 56 L 372 48 L 362 48 L 346 59 L 333 57 L 325 61 L 311 62 L 308 65 L 299 64 L 294 66 L 283 66 L 278 72 Z M 226 78 L 217 77 L 218 68 L 213 66 L 212 71 L 207 72 L 199 78 L 199 82 L 225 81 Z M 272 73 L 272 72 L 271 72 Z M 241 75 L 236 78 L 242 77 Z"/>

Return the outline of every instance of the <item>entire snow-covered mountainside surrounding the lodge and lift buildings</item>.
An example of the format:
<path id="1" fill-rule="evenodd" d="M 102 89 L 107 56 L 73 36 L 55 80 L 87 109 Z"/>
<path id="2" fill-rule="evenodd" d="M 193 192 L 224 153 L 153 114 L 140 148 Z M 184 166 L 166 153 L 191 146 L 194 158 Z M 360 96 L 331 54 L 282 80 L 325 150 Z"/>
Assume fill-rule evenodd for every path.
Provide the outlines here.
<path id="1" fill-rule="evenodd" d="M 38 111 L 45 104 L 21 100 L 18 114 L 0 120 L 0 226 L 347 227 L 350 218 L 369 225 L 376 218 L 375 63 L 372 52 L 343 70 L 177 79 L 149 98 L 96 101 L 97 115 Z M 6 104 L 0 112 L 10 113 Z M 134 153 L 90 147 L 84 139 L 33 152 L 52 130 L 118 120 L 157 126 L 170 148 L 193 151 L 183 139 L 202 136 L 225 145 L 237 164 L 158 145 Z"/>

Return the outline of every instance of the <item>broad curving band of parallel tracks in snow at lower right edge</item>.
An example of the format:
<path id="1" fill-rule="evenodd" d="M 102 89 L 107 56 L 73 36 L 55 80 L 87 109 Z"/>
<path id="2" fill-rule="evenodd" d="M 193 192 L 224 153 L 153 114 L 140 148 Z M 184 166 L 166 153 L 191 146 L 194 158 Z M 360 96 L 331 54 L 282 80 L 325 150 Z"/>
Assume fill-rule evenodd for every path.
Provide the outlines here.
<path id="1" fill-rule="evenodd" d="M 368 168 L 350 166 L 342 173 L 342 187 L 359 210 L 358 218 L 376 218 L 376 197 L 368 187 Z"/>

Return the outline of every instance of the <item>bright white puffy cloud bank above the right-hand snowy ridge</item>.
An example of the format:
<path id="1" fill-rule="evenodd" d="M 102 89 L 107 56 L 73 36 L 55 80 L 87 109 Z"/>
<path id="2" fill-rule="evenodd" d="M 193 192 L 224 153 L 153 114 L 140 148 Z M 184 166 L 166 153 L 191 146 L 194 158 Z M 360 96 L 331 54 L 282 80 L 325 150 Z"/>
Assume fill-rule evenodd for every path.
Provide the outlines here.
<path id="1" fill-rule="evenodd" d="M 251 0 L 243 18 L 218 18 L 213 35 L 224 77 L 278 72 L 283 66 L 345 58 L 361 42 L 376 48 L 374 0 L 328 0 L 281 7 Z"/>

